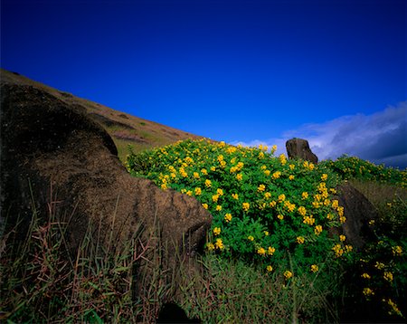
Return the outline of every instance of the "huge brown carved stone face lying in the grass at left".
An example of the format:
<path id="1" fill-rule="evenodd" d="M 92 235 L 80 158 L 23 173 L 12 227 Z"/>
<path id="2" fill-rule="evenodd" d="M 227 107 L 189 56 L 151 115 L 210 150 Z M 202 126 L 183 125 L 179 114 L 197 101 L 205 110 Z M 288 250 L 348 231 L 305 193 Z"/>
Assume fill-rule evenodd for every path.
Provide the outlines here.
<path id="1" fill-rule="evenodd" d="M 190 255 L 204 241 L 211 214 L 194 197 L 130 176 L 108 133 L 80 106 L 9 83 L 2 84 L 1 95 L 1 214 L 7 229 L 20 222 L 24 239 L 35 211 L 46 217 L 47 208 L 57 210 L 75 251 L 89 228 L 101 246 L 119 247 L 142 225 L 144 244 L 154 233 L 148 246 L 168 246 L 163 262 L 172 266 L 175 250 L 178 257 Z"/>

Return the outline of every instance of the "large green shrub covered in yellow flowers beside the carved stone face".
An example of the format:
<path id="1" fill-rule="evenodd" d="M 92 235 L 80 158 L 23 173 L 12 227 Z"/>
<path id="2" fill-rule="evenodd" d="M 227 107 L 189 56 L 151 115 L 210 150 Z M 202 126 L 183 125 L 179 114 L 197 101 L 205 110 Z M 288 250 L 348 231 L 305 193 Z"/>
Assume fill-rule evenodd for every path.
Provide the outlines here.
<path id="1" fill-rule="evenodd" d="M 128 170 L 163 190 L 195 196 L 213 214 L 206 243 L 213 253 L 260 262 L 267 272 L 280 269 L 288 280 L 349 258 L 352 246 L 328 234 L 345 223 L 344 208 L 333 199 L 338 176 L 307 161 L 274 157 L 275 149 L 185 140 L 131 154 Z"/>

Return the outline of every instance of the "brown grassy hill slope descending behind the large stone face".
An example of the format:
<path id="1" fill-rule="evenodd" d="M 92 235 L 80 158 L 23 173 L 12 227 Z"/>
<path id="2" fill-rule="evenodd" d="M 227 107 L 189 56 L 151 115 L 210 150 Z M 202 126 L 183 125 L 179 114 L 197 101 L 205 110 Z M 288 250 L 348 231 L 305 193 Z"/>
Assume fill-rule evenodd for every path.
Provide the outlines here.
<path id="1" fill-rule="evenodd" d="M 33 81 L 16 72 L 1 69 L 1 83 L 14 83 L 17 85 L 29 85 L 34 88 L 47 91 L 59 100 L 71 105 L 84 107 L 91 119 L 96 120 L 108 131 L 117 148 L 118 157 L 121 160 L 128 154 L 128 145 L 132 145 L 134 151 L 146 148 L 163 146 L 185 138 L 201 138 L 179 129 L 173 129 L 147 119 L 129 115 L 125 112 L 113 110 L 97 102 L 75 97 L 69 92 L 59 91 L 43 83 Z"/>

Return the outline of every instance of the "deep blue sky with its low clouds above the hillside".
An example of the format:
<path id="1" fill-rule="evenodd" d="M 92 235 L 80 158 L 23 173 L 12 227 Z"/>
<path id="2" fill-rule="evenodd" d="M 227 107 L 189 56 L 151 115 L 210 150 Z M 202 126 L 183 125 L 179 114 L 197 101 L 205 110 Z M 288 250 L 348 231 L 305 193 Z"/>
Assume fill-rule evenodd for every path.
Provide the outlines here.
<path id="1" fill-rule="evenodd" d="M 407 167 L 404 0 L 2 0 L 1 66 L 229 143 Z"/>

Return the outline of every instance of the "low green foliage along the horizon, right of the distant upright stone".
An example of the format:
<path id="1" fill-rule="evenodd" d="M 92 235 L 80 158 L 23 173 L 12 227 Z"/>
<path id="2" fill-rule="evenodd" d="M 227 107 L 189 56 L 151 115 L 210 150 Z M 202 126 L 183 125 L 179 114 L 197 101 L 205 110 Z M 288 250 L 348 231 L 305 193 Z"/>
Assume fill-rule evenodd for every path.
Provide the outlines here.
<path id="1" fill-rule="evenodd" d="M 338 157 L 336 161 L 323 161 L 322 164 L 344 179 L 378 181 L 407 187 L 407 170 L 384 167 L 383 165 L 376 166 L 364 159 L 346 155 Z"/>

